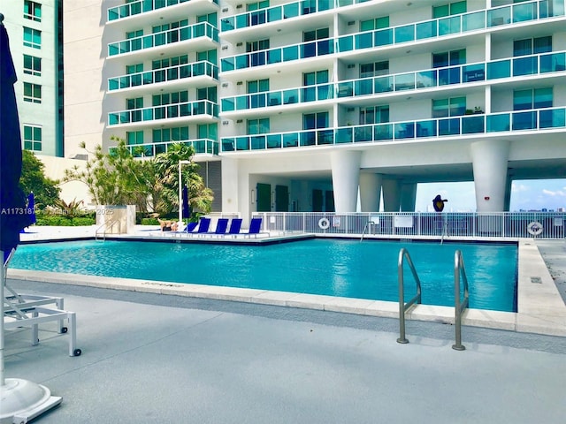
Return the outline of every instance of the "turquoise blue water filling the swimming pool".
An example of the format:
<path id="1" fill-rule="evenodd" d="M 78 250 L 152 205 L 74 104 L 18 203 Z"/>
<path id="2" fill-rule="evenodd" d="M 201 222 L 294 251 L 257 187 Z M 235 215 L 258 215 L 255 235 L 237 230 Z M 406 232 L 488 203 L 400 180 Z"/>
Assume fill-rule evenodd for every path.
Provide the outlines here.
<path id="1" fill-rule="evenodd" d="M 270 246 L 73 241 L 19 246 L 10 267 L 176 283 L 398 301 L 397 261 L 409 254 L 423 303 L 454 306 L 454 254 L 463 252 L 470 307 L 516 310 L 515 245 L 310 239 Z M 407 299 L 415 294 L 409 269 Z"/>

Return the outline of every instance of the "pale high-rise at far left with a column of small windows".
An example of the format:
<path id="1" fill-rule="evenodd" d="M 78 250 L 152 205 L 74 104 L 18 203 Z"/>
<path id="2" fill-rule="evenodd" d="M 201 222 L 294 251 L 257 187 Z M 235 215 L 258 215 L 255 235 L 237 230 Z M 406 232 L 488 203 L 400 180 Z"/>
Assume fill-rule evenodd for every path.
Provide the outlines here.
<path id="1" fill-rule="evenodd" d="M 0 0 L 18 81 L 23 148 L 63 156 L 62 0 Z"/>

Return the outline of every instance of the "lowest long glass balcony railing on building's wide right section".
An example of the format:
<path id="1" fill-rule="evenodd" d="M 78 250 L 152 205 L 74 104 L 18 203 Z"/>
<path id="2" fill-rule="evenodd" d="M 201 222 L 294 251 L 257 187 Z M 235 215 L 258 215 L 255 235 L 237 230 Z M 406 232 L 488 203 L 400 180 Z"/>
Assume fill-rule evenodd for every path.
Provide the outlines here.
<path id="1" fill-rule="evenodd" d="M 242 135 L 225 137 L 222 138 L 221 142 L 223 152 L 234 152 L 268 148 L 332 146 L 360 142 L 379 143 L 393 140 L 509 131 L 544 131 L 556 128 L 566 128 L 566 108 L 516 110 L 489 115 L 464 115 L 287 133 Z"/>

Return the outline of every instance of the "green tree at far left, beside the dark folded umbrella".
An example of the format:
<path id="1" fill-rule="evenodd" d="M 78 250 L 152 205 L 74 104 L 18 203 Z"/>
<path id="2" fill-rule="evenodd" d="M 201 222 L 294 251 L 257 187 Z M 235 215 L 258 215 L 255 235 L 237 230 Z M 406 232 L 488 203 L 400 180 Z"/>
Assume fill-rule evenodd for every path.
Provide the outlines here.
<path id="1" fill-rule="evenodd" d="M 34 155 L 34 152 L 22 151 L 21 168 L 19 186 L 24 193 L 34 193 L 34 201 L 38 207 L 55 205 L 61 192 L 57 186 L 59 182 L 45 177 L 45 165 Z"/>

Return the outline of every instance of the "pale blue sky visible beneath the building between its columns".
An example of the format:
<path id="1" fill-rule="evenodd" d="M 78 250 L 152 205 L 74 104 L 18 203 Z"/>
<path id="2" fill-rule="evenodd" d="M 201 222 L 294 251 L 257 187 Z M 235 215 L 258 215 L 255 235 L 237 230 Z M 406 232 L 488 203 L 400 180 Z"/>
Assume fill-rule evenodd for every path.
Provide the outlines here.
<path id="1" fill-rule="evenodd" d="M 432 211 L 432 199 L 440 194 L 447 199 L 446 212 L 475 212 L 474 183 L 431 183 L 417 186 L 415 210 Z M 566 179 L 516 180 L 511 186 L 511 212 L 566 208 Z"/>

